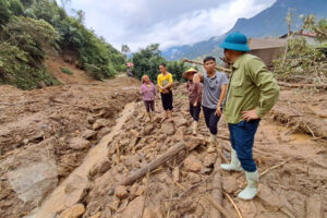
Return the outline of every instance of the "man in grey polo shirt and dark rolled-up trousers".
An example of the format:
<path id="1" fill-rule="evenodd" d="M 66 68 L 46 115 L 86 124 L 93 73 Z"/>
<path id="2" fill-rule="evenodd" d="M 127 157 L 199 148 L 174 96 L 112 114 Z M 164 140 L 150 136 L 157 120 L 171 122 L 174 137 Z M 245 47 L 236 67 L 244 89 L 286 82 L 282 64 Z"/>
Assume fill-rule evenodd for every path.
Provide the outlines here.
<path id="1" fill-rule="evenodd" d="M 204 69 L 206 73 L 198 75 L 203 80 L 202 108 L 206 125 L 210 131 L 208 153 L 216 150 L 218 122 L 222 114 L 222 102 L 226 97 L 228 77 L 225 73 L 216 71 L 216 59 L 206 57 L 204 59 Z"/>

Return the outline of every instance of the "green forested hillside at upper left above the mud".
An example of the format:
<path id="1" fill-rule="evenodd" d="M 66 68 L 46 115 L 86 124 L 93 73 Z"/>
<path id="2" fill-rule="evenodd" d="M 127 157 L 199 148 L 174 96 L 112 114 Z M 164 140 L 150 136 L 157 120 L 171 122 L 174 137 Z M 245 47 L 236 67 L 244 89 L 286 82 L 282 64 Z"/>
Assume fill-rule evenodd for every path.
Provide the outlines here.
<path id="1" fill-rule="evenodd" d="M 45 60 L 72 55 L 97 80 L 125 68 L 125 57 L 83 24 L 84 12 L 70 16 L 53 0 L 0 0 L 0 84 L 29 89 L 56 85 Z"/>

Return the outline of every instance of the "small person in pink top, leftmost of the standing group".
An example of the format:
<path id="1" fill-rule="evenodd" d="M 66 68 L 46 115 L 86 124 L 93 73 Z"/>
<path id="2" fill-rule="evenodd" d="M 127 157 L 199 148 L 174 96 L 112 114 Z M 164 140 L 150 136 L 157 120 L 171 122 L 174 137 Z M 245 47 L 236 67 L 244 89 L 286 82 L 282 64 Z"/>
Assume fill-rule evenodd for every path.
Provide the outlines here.
<path id="1" fill-rule="evenodd" d="M 152 111 L 155 111 L 156 87 L 148 75 L 142 77 L 140 93 L 143 96 L 144 106 L 149 121 L 152 121 Z"/>

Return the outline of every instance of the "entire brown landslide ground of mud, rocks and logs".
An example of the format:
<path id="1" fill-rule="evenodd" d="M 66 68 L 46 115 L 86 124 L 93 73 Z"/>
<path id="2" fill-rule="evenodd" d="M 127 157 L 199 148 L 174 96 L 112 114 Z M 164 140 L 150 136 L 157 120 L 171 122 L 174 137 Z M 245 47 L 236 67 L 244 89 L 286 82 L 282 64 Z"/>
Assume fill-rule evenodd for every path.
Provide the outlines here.
<path id="1" fill-rule="evenodd" d="M 207 153 L 203 114 L 192 135 L 183 84 L 174 92 L 174 122 L 159 122 L 160 99 L 149 121 L 143 102 L 132 102 L 141 99 L 138 86 L 117 80 L 110 89 L 11 96 L 11 87 L 0 87 L 0 217 L 327 217 L 326 92 L 281 92 L 256 134 L 259 193 L 242 202 L 244 172 L 219 168 L 230 158 L 225 119 L 217 150 Z"/>

